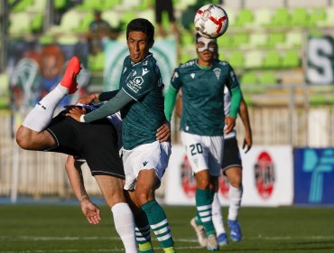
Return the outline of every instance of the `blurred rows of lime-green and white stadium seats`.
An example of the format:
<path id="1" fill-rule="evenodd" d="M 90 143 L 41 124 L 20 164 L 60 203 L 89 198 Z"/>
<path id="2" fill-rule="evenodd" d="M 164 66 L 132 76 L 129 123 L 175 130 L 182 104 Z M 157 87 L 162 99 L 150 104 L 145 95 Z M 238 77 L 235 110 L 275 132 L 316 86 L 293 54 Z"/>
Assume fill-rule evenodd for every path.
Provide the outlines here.
<path id="1" fill-rule="evenodd" d="M 9 1 L 9 3 L 14 2 L 14 0 Z M 276 84 L 291 80 L 285 75 L 293 76 L 295 80 L 303 80 L 302 49 L 307 34 L 309 31 L 317 32 L 311 29 L 312 27 L 327 28 L 334 23 L 334 6 L 325 0 L 317 1 L 317 5 L 311 0 L 302 1 L 303 3 L 283 0 L 274 2 L 174 0 L 175 15 L 181 28 L 179 62 L 196 56 L 193 52 L 192 31 L 192 19 L 196 8 L 220 2 L 227 10 L 229 28 L 227 33 L 218 39 L 219 54 L 222 59 L 230 61 L 240 78 L 247 73 L 246 70 L 256 70 L 259 76 L 263 76 L 265 81 L 263 79 L 261 81 L 264 82 L 268 82 L 265 78 L 268 71 L 279 71 L 275 78 L 272 75 L 270 79 L 268 78 Z M 71 2 L 55 0 L 53 1 L 55 10 L 61 10 L 64 14 L 61 15 L 59 24 L 42 31 L 46 3 L 47 1 L 42 0 L 17 1 L 10 14 L 9 35 L 17 39 L 24 34 L 36 34 L 42 43 L 51 42 L 53 38 L 61 44 L 74 44 L 79 42 L 87 31 L 88 24 L 93 19 L 94 9 L 103 11 L 103 19 L 118 31 L 124 31 L 126 23 L 135 16 L 144 16 L 154 22 L 152 2 L 148 0 Z M 169 26 L 166 16 L 162 17 L 162 23 L 164 27 Z M 103 59 L 102 55 L 89 56 L 88 62 L 91 64 L 93 74 L 102 73 Z"/>

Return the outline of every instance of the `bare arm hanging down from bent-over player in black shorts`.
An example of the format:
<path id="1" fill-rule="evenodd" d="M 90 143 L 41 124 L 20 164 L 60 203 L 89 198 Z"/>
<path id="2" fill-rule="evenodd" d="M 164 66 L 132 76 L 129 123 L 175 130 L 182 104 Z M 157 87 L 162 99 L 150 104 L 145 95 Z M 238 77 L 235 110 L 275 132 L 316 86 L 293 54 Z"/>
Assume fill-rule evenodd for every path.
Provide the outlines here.
<path id="1" fill-rule="evenodd" d="M 90 224 L 97 224 L 101 220 L 101 211 L 93 202 L 89 201 L 81 172 L 82 164 L 83 162 L 78 162 L 73 156 L 69 155 L 66 160 L 65 169 L 69 176 L 73 192 L 80 202 L 81 211 Z"/>

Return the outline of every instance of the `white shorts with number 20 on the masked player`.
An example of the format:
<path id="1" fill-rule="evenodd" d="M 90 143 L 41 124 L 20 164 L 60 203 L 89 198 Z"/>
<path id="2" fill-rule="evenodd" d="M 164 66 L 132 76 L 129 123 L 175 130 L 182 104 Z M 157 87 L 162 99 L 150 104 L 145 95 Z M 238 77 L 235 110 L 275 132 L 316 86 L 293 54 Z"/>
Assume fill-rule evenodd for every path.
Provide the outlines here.
<path id="1" fill-rule="evenodd" d="M 210 175 L 219 175 L 223 160 L 224 136 L 198 136 L 182 131 L 181 139 L 194 173 L 209 170 Z"/>

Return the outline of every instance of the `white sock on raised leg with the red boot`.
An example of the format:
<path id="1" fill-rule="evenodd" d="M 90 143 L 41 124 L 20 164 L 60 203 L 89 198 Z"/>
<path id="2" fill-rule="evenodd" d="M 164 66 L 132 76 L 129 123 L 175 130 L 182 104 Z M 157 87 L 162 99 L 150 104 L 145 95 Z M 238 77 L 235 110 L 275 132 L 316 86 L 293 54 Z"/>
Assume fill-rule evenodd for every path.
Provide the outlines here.
<path id="1" fill-rule="evenodd" d="M 24 118 L 23 126 L 28 127 L 36 132 L 41 132 L 50 123 L 54 109 L 60 100 L 69 93 L 69 89 L 57 85 L 30 111 Z"/>

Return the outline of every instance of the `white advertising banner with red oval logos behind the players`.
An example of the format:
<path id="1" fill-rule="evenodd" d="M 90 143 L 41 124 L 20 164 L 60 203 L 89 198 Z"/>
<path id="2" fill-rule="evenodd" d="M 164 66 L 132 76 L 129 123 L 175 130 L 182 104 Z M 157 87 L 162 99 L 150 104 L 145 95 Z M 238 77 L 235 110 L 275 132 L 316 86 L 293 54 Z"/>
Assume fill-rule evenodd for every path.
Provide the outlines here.
<path id="1" fill-rule="evenodd" d="M 292 147 L 290 145 L 255 145 L 243 159 L 244 195 L 242 205 L 279 206 L 293 202 Z M 182 145 L 172 146 L 166 172 L 166 204 L 194 205 L 196 183 Z M 219 199 L 228 205 L 229 184 L 219 180 Z"/>

